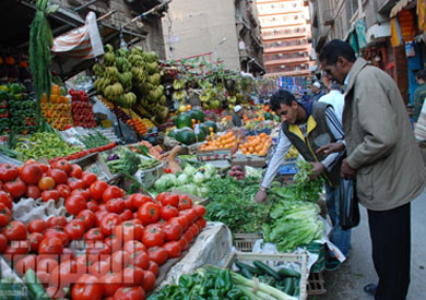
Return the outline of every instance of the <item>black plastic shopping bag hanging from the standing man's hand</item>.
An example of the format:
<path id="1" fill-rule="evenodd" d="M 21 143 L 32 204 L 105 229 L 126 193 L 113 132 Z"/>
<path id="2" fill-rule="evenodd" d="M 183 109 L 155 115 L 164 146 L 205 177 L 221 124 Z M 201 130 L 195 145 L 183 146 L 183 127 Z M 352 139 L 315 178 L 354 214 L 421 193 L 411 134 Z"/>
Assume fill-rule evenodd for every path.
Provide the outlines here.
<path id="1" fill-rule="evenodd" d="M 339 225 L 342 229 L 350 229 L 359 224 L 359 207 L 356 196 L 355 180 L 341 180 L 339 201 Z"/>

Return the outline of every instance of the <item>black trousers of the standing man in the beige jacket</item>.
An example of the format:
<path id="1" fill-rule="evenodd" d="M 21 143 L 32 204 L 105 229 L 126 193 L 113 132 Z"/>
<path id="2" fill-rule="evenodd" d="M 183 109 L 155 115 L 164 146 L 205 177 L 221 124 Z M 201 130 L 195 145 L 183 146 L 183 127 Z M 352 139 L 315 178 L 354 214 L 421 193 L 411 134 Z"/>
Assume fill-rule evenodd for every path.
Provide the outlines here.
<path id="1" fill-rule="evenodd" d="M 411 203 L 368 209 L 372 262 L 379 277 L 376 300 L 404 300 L 410 286 Z"/>

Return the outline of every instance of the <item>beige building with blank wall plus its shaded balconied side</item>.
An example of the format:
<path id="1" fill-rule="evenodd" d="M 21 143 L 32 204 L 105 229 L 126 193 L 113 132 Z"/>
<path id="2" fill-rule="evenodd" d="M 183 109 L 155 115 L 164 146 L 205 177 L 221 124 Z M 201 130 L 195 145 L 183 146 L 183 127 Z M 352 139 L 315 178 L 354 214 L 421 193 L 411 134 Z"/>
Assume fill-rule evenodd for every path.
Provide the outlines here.
<path id="1" fill-rule="evenodd" d="M 167 59 L 203 56 L 232 71 L 255 75 L 263 72 L 260 26 L 252 0 L 173 1 L 163 27 Z"/>

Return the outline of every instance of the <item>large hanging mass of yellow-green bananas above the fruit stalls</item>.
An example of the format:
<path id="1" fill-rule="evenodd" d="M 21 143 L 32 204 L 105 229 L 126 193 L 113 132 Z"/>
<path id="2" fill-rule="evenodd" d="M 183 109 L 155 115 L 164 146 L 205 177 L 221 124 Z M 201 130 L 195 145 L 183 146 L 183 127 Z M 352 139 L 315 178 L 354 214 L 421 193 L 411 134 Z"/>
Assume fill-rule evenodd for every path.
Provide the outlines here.
<path id="1" fill-rule="evenodd" d="M 104 64 L 95 64 L 93 71 L 97 76 L 94 87 L 108 100 L 123 108 L 131 108 L 138 101 L 162 123 L 166 120 L 168 109 L 164 86 L 159 84 L 158 56 L 155 52 L 144 52 L 141 47 L 130 51 L 118 49 L 114 53 L 110 45 L 105 46 Z M 137 87 L 142 97 L 138 100 Z"/>

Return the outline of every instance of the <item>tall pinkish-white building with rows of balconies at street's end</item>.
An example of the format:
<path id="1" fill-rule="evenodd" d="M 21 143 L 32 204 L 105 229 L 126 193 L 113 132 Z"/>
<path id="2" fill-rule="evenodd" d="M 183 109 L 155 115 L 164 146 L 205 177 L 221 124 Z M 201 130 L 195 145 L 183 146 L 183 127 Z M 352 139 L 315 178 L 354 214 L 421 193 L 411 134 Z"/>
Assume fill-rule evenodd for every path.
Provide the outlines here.
<path id="1" fill-rule="evenodd" d="M 310 75 L 308 4 L 301 0 L 257 0 L 265 76 Z"/>

